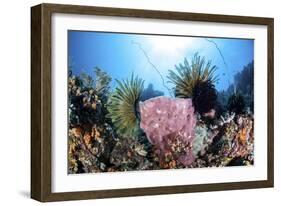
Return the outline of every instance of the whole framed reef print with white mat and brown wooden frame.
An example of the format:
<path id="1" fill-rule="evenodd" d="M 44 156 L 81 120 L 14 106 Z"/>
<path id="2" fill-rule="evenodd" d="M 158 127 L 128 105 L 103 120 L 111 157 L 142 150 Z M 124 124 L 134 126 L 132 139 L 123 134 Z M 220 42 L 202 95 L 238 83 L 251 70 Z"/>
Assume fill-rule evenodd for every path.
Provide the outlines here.
<path id="1" fill-rule="evenodd" d="M 273 19 L 31 8 L 31 197 L 273 187 Z"/>

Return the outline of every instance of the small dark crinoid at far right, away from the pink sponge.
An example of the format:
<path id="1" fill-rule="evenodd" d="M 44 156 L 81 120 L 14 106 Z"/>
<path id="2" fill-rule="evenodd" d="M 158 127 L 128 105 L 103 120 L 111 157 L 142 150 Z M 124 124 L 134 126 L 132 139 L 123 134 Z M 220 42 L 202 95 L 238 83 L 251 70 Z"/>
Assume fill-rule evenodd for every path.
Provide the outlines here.
<path id="1" fill-rule="evenodd" d="M 234 112 L 235 114 L 241 114 L 245 110 L 245 99 L 242 94 L 232 94 L 228 98 L 227 108 L 230 112 Z"/>

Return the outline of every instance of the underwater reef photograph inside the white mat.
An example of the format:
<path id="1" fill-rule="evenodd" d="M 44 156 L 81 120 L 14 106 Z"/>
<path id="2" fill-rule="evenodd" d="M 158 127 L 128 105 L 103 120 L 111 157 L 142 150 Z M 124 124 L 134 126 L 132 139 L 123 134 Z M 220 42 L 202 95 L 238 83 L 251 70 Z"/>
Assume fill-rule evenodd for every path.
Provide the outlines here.
<path id="1" fill-rule="evenodd" d="M 68 31 L 68 174 L 254 165 L 254 40 Z"/>

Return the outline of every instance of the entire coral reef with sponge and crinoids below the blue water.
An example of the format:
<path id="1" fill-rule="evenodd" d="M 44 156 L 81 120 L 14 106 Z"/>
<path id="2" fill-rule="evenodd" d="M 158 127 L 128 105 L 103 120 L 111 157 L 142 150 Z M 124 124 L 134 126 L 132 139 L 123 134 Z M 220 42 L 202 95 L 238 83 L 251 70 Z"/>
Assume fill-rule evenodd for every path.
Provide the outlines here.
<path id="1" fill-rule="evenodd" d="M 239 74 L 239 92 L 218 93 L 215 70 L 198 54 L 176 66 L 169 73 L 176 97 L 152 84 L 144 89 L 133 74 L 110 88 L 102 69 L 70 71 L 68 173 L 254 165 L 251 83 Z M 248 65 L 241 74 L 251 71 Z"/>

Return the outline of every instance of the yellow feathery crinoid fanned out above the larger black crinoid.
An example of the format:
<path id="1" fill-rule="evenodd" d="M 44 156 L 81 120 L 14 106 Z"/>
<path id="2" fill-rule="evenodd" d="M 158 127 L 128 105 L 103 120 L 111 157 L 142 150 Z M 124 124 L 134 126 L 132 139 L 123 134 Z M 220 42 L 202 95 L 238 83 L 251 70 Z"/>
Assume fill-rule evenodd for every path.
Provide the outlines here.
<path id="1" fill-rule="evenodd" d="M 174 84 L 176 97 L 190 98 L 196 84 L 209 81 L 214 84 L 217 81 L 215 76 L 216 66 L 211 65 L 211 61 L 206 63 L 205 58 L 196 53 L 191 64 L 184 59 L 184 64 L 176 65 L 176 72 L 169 70 L 168 79 Z"/>

